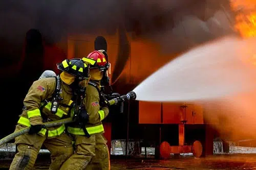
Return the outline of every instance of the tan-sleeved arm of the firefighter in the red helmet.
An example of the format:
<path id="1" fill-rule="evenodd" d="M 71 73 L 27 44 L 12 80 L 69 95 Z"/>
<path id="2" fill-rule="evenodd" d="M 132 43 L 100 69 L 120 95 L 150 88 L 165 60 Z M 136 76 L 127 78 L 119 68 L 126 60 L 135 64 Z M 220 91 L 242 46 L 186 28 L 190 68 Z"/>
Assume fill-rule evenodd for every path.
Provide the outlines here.
<path id="1" fill-rule="evenodd" d="M 107 107 L 100 109 L 99 95 L 97 95 L 98 91 L 96 92 L 97 93 L 87 94 L 85 99 L 86 104 L 84 106 L 89 114 L 90 124 L 97 124 L 101 122 L 101 120 L 109 114 L 109 109 Z"/>

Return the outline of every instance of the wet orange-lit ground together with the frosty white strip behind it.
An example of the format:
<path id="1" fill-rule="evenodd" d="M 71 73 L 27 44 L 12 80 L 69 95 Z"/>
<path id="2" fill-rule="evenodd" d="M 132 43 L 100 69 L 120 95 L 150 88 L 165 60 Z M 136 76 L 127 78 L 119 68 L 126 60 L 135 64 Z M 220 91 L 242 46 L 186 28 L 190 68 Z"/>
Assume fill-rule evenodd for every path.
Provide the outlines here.
<path id="1" fill-rule="evenodd" d="M 15 147 L 7 144 L 0 149 L 0 170 L 8 169 L 15 154 Z M 154 150 L 147 148 L 147 158 L 144 157 L 144 148 L 137 158 L 123 156 L 122 149 L 116 148 L 115 155 L 111 157 L 111 169 L 131 170 L 229 170 L 229 169 L 256 169 L 256 148 L 230 146 L 228 154 L 219 153 L 205 158 L 194 158 L 191 154 L 184 154 L 179 157 L 171 155 L 168 160 L 155 160 Z M 50 164 L 49 152 L 41 150 L 35 169 L 48 169 Z"/>

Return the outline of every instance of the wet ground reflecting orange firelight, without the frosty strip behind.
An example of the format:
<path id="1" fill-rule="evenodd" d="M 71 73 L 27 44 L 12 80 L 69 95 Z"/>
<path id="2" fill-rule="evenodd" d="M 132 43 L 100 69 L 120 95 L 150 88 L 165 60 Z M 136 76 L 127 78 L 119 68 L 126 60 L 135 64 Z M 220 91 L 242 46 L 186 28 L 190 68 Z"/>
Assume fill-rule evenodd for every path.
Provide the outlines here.
<path id="1" fill-rule="evenodd" d="M 10 161 L 0 162 L 0 169 L 8 169 Z M 36 169 L 48 169 L 49 162 L 38 162 Z M 157 161 L 154 159 L 112 159 L 111 169 L 134 169 L 134 170 L 229 170 L 229 169 L 256 169 L 256 155 L 215 155 L 206 158 L 194 158 L 192 156 L 181 156 L 169 160 Z"/>

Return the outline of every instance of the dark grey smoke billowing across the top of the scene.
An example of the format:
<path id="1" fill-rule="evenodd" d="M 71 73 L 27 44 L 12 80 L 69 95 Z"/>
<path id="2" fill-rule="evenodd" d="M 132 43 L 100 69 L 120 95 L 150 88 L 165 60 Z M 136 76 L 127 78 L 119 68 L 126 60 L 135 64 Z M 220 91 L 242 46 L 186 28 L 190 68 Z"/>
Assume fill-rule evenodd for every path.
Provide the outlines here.
<path id="1" fill-rule="evenodd" d="M 214 8 L 218 9 L 220 2 L 215 1 L 217 7 Z M 207 4 L 211 6 L 211 11 L 207 11 Z M 225 20 L 227 16 L 220 14 L 218 10 L 212 12 L 211 4 L 212 2 L 202 0 L 1 1 L 0 37 L 22 42 L 25 33 L 30 28 L 35 28 L 49 43 L 54 43 L 67 34 L 93 33 L 96 29 L 108 30 L 111 34 L 116 31 L 118 24 L 123 23 L 127 30 L 140 30 L 141 35 L 155 38 L 159 42 L 164 41 L 159 37 L 165 35 L 163 37 L 171 36 L 172 41 L 180 42 L 178 44 L 185 43 L 182 41 L 184 37 L 189 39 L 189 44 L 195 44 L 209 39 L 212 34 L 223 34 L 221 30 L 228 28 Z M 203 21 L 204 15 L 211 18 Z M 139 22 L 139 26 L 134 26 L 135 22 Z M 219 30 L 214 29 L 215 27 Z"/>

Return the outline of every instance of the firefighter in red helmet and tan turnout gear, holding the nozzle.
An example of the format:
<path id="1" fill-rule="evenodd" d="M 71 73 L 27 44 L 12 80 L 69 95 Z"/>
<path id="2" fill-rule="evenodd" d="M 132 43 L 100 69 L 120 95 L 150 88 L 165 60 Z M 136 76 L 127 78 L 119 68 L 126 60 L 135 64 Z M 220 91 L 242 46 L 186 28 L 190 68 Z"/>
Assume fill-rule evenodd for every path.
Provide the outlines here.
<path id="1" fill-rule="evenodd" d="M 106 79 L 108 78 L 107 70 L 109 68 L 109 63 L 106 61 L 105 56 L 99 51 L 94 51 L 86 58 L 82 58 L 84 62 L 88 62 L 88 60 L 91 59 L 96 62 L 90 66 L 91 77 L 86 89 L 85 108 L 88 113 L 98 115 L 90 117 L 87 125 L 93 125 L 94 127 L 99 128 L 93 135 L 88 135 L 86 132 L 78 128 L 77 125 L 68 126 L 67 131 L 75 140 L 75 153 L 65 163 L 63 163 L 60 170 L 88 169 L 90 168 L 89 163 L 91 160 L 95 160 L 95 156 L 104 158 L 102 159 L 104 162 L 100 162 L 100 160 L 100 164 L 96 165 L 97 169 L 109 169 L 109 151 L 106 145 L 106 140 L 103 137 L 104 128 L 101 123 L 101 120 L 109 114 L 109 108 L 107 105 L 102 105 L 102 102 L 100 101 L 100 81 L 104 77 L 106 77 Z M 98 149 L 98 147 L 100 149 Z M 101 153 L 97 152 L 95 155 L 95 150 L 100 150 Z"/>

